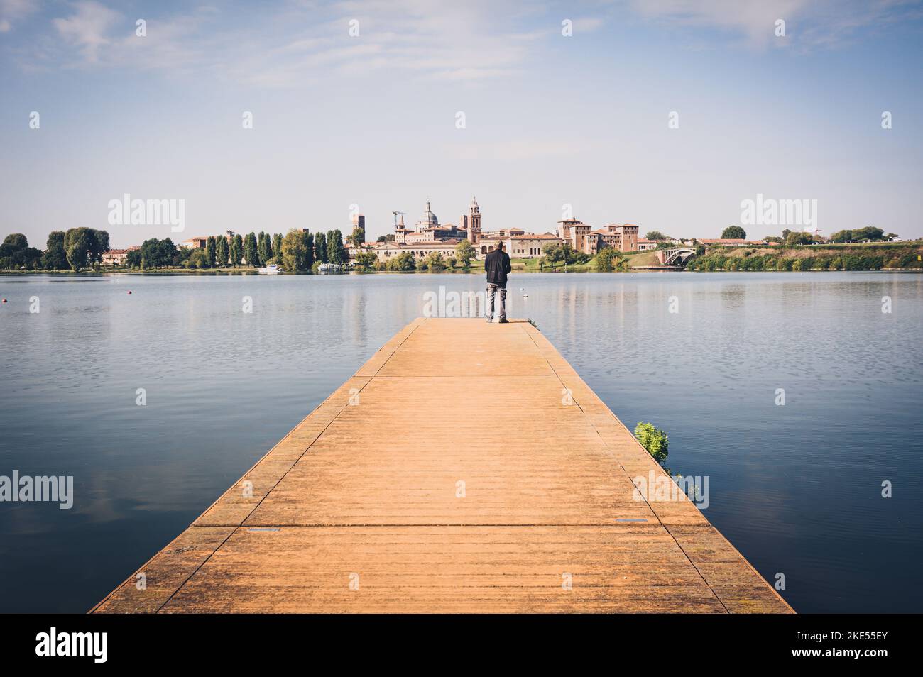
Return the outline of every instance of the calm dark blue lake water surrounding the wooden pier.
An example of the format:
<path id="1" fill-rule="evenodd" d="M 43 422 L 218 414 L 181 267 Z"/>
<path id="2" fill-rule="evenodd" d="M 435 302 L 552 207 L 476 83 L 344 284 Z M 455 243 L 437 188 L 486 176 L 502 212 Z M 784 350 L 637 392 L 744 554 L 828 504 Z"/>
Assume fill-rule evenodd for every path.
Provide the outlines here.
<path id="1" fill-rule="evenodd" d="M 0 278 L 0 475 L 73 475 L 76 494 L 71 510 L 0 504 L 0 611 L 87 611 L 439 285 L 481 288 Z M 623 422 L 666 430 L 674 472 L 711 477 L 706 517 L 764 577 L 785 574 L 797 611 L 923 611 L 923 276 L 546 274 L 510 289 L 510 315 L 533 318 Z"/>

